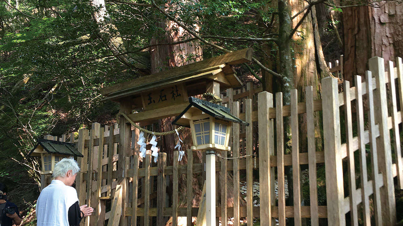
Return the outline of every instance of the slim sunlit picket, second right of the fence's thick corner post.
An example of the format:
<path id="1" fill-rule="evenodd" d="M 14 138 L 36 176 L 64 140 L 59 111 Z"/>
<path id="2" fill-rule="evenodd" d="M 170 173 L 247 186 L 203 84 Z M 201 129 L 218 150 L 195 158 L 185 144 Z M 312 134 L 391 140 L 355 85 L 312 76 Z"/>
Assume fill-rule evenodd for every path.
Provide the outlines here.
<path id="1" fill-rule="evenodd" d="M 362 84 L 361 76 L 355 76 L 355 95 L 357 96 L 357 135 L 359 138 L 359 166 L 361 175 L 361 194 L 363 203 L 362 220 L 364 225 L 371 225 L 370 203 L 368 199 L 368 175 L 367 175 L 367 159 L 364 142 L 364 105 L 362 103 Z"/>

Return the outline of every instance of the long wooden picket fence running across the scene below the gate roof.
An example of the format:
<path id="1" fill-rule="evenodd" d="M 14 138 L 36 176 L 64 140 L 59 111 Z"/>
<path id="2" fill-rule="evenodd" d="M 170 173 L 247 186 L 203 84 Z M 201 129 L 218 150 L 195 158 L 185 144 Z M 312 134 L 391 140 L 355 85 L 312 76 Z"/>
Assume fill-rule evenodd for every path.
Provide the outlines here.
<path id="1" fill-rule="evenodd" d="M 227 225 L 233 218 L 234 225 L 239 226 L 240 220 L 246 219 L 251 226 L 252 219 L 260 221 L 260 225 L 276 225 L 278 220 L 284 226 L 286 218 L 293 218 L 295 225 L 306 221 L 312 226 L 346 225 L 346 221 L 358 225 L 358 220 L 395 225 L 394 189 L 403 189 L 399 129 L 403 117 L 403 65 L 401 58 L 396 62 L 395 68 L 389 64 L 385 72 L 383 59 L 371 58 L 366 82 L 356 76 L 355 86 L 350 87 L 346 81 L 343 92 L 338 91 L 337 79 L 324 78 L 322 99 L 315 99 L 309 86 L 305 88 L 305 102 L 298 103 L 297 90 L 291 90 L 290 105 L 283 105 L 282 93 L 256 93 L 251 84 L 245 92 L 228 89 L 224 102 L 235 116 L 252 126 L 234 125 L 232 151 L 228 153 L 232 159 L 217 157 L 217 221 Z M 299 121 L 301 115 L 305 115 L 305 122 Z M 291 128 L 290 150 L 285 150 L 284 145 L 285 119 L 289 119 Z M 304 148 L 298 133 L 304 123 L 307 152 L 300 151 Z M 180 217 L 186 217 L 188 226 L 193 225 L 192 217 L 197 217 L 199 224 L 205 207 L 192 205 L 192 178 L 204 172 L 204 164 L 192 162 L 196 151 L 186 152 L 188 164 L 174 161 L 172 166 L 166 165 L 166 153 L 159 153 L 155 165 L 150 154 L 139 160 L 138 134 L 138 129 L 121 119 L 119 126 L 93 123 L 91 130 L 79 131 L 78 140 L 71 139 L 84 155 L 78 159 L 81 173 L 76 180 L 80 203 L 95 208 L 95 214 L 82 224 L 101 226 L 107 221 L 111 226 L 162 226 L 167 217 L 172 217 L 173 226 Z M 323 150 L 316 148 L 320 146 L 318 140 L 323 140 Z M 221 153 L 224 157 L 226 154 Z M 250 154 L 256 154 L 256 158 L 237 158 Z M 175 151 L 174 159 L 177 155 Z M 285 205 L 285 167 L 289 166 L 293 206 Z M 259 169 L 256 177 L 254 168 Z M 302 178 L 301 171 L 307 172 L 307 177 Z M 233 186 L 228 182 L 229 174 L 233 175 Z M 177 183 L 181 175 L 186 175 L 186 189 Z M 174 182 L 170 205 L 166 202 L 166 177 Z M 253 195 L 253 181 L 260 183 L 258 196 Z M 240 191 L 240 184 L 246 184 L 245 192 Z M 175 192 L 178 190 L 187 190 L 186 200 L 179 200 Z M 233 199 L 232 205 L 227 205 L 228 199 Z"/>

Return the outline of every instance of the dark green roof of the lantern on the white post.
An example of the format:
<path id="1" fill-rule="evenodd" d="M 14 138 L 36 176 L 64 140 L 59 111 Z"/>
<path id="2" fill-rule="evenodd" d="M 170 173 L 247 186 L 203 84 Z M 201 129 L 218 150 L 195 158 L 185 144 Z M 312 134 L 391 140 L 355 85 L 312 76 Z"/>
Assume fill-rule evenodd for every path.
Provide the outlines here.
<path id="1" fill-rule="evenodd" d="M 181 125 L 185 127 L 189 127 L 189 125 L 185 125 L 182 123 L 179 123 L 178 120 L 191 108 L 191 107 L 196 107 L 197 109 L 203 111 L 204 113 L 218 118 L 218 119 L 223 119 L 226 121 L 232 121 L 235 123 L 239 123 L 242 125 L 249 126 L 249 123 L 242 121 L 238 117 L 232 115 L 230 113 L 230 109 L 228 107 L 224 107 L 215 103 L 211 103 L 208 101 L 204 101 L 195 97 L 189 97 L 189 105 L 185 108 L 185 110 L 182 111 L 181 114 L 179 114 L 174 121 L 172 121 L 172 124 L 174 125 Z"/>

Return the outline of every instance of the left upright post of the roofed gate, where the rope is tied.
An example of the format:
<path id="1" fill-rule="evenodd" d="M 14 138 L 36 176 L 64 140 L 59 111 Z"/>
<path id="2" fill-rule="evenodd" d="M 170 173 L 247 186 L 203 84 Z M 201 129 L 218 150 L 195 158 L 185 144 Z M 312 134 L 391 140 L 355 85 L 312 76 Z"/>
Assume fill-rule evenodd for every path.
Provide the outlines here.
<path id="1" fill-rule="evenodd" d="M 129 99 L 120 102 L 120 112 L 129 115 L 131 113 L 131 101 Z M 123 213 L 126 213 L 126 206 L 128 199 L 126 199 L 126 156 L 131 155 L 131 124 L 128 123 L 125 117 L 120 116 L 119 121 L 119 160 L 118 160 L 118 184 L 122 186 L 122 207 Z M 125 214 L 122 214 L 120 219 L 120 226 L 127 225 L 127 219 Z"/>

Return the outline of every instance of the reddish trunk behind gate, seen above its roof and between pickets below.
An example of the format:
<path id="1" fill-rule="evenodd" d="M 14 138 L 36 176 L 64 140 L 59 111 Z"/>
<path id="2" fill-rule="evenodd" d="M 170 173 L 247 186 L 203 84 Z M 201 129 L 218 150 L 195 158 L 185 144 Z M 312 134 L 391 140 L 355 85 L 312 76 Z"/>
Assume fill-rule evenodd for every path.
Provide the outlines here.
<path id="1" fill-rule="evenodd" d="M 168 7 L 166 7 L 168 8 Z M 183 39 L 191 38 L 191 36 L 187 35 L 186 31 L 183 30 L 182 27 L 177 26 L 172 21 L 162 20 L 156 25 L 165 30 L 165 34 L 162 35 L 162 38 L 153 38 L 150 41 L 150 44 L 157 43 L 172 43 L 181 41 Z M 193 62 L 197 62 L 203 60 L 203 50 L 198 45 L 198 41 L 193 41 L 189 43 L 182 43 L 178 45 L 160 45 L 150 48 L 150 58 L 151 58 L 151 73 L 154 74 L 156 72 L 161 72 L 164 70 L 169 70 L 173 67 L 179 67 L 186 64 L 191 64 Z M 191 58 L 191 60 L 189 60 Z M 171 131 L 176 126 L 172 125 L 174 117 L 168 117 L 164 119 L 158 120 L 158 127 L 160 131 Z M 182 150 L 187 153 L 192 145 L 191 133 L 190 129 L 183 129 L 180 132 L 181 139 L 183 140 Z M 177 159 L 173 159 L 174 146 L 177 142 L 177 135 L 171 134 L 166 136 L 161 136 L 162 146 L 161 152 L 166 152 L 167 155 L 167 165 L 173 165 L 173 161 L 177 161 Z M 202 162 L 202 153 L 194 152 L 193 154 L 193 163 Z M 187 163 L 187 154 L 183 157 L 181 164 Z M 196 176 L 197 177 L 197 176 Z M 204 179 L 197 177 L 193 179 L 193 203 L 197 204 L 202 193 Z M 186 198 L 186 177 L 179 177 L 179 205 L 183 205 L 184 203 L 181 200 L 185 200 Z M 201 184 L 201 185 L 200 185 Z M 172 178 L 168 185 L 170 188 L 167 189 L 169 196 L 172 197 Z M 176 192 L 176 191 L 174 191 Z"/>

